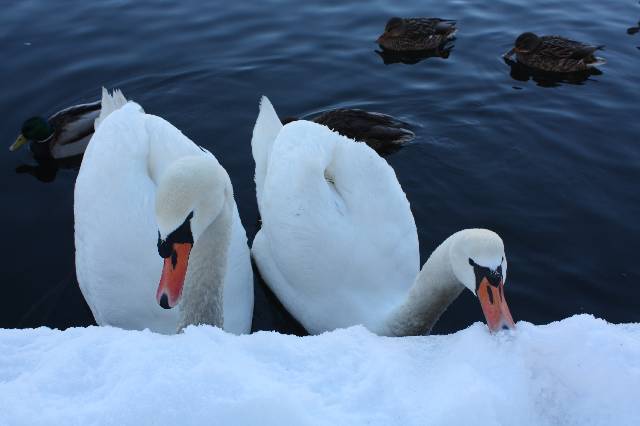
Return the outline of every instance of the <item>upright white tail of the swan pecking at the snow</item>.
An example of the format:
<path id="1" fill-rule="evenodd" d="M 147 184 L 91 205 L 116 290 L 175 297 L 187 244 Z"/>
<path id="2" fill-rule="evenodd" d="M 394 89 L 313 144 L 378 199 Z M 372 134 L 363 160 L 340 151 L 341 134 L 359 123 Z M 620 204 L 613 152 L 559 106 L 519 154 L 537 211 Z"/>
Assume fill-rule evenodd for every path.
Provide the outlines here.
<path id="1" fill-rule="evenodd" d="M 269 101 L 269 98 L 263 96 L 260 99 L 260 112 L 258 113 L 251 138 L 251 152 L 253 154 L 253 160 L 256 163 L 255 181 L 258 207 L 260 207 L 262 187 L 267 175 L 267 167 L 273 142 L 276 140 L 281 129 L 282 123 L 278 118 L 278 114 Z"/>

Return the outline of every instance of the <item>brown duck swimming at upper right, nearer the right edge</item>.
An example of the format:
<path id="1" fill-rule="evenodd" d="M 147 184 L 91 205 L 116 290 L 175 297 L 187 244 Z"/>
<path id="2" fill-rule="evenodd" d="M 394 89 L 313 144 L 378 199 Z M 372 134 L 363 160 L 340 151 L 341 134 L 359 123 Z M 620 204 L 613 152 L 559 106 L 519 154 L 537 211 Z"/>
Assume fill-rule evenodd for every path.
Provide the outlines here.
<path id="1" fill-rule="evenodd" d="M 590 46 L 560 36 L 538 37 L 534 33 L 520 34 L 515 46 L 505 54 L 511 57 L 514 53 L 518 62 L 542 71 L 576 72 L 586 71 L 605 60 L 594 55 L 596 50 L 604 46 Z"/>

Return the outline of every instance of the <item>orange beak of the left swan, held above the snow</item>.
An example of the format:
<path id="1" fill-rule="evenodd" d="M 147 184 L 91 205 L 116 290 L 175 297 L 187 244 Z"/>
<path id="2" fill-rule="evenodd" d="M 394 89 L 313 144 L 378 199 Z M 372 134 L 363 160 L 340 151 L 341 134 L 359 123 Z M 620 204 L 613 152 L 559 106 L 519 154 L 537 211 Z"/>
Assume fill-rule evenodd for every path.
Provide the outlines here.
<path id="1" fill-rule="evenodd" d="M 156 300 L 164 309 L 171 309 L 180 301 L 192 246 L 191 243 L 174 243 L 171 256 L 164 259 L 162 276 L 156 292 Z"/>

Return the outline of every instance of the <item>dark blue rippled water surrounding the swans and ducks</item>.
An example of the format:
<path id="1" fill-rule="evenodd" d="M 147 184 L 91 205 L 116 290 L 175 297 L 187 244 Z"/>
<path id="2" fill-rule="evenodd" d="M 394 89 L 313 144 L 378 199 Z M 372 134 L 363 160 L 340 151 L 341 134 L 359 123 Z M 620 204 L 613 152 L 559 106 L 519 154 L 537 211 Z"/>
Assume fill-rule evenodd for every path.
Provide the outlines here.
<path id="1" fill-rule="evenodd" d="M 343 106 L 392 114 L 417 134 L 387 158 L 423 259 L 459 229 L 491 228 L 506 244 L 516 319 L 640 321 L 636 1 L 92 3 L 3 3 L 2 144 L 31 115 L 119 87 L 215 153 L 253 238 L 260 95 L 283 116 Z M 457 19 L 448 58 L 385 65 L 374 40 L 394 15 Z M 583 81 L 512 69 L 500 55 L 527 30 L 606 44 L 608 64 Z M 0 149 L 0 327 L 91 324 L 73 273 L 77 172 L 43 183 L 15 171 L 33 164 L 27 150 Z M 264 287 L 256 291 L 254 326 L 295 331 Z M 436 332 L 481 319 L 465 292 Z"/>

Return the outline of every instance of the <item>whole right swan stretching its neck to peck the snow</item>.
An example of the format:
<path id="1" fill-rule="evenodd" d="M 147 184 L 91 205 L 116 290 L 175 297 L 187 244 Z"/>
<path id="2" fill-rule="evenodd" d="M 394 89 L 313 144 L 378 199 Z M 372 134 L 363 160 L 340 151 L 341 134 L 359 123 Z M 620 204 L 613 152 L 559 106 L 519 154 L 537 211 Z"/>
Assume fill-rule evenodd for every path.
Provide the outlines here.
<path id="1" fill-rule="evenodd" d="M 426 334 L 465 287 L 492 331 L 513 327 L 500 237 L 457 232 L 419 270 L 409 202 L 368 146 L 308 121 L 282 126 L 262 98 L 252 150 L 262 217 L 252 255 L 307 331 L 363 324 L 381 335 Z"/>

